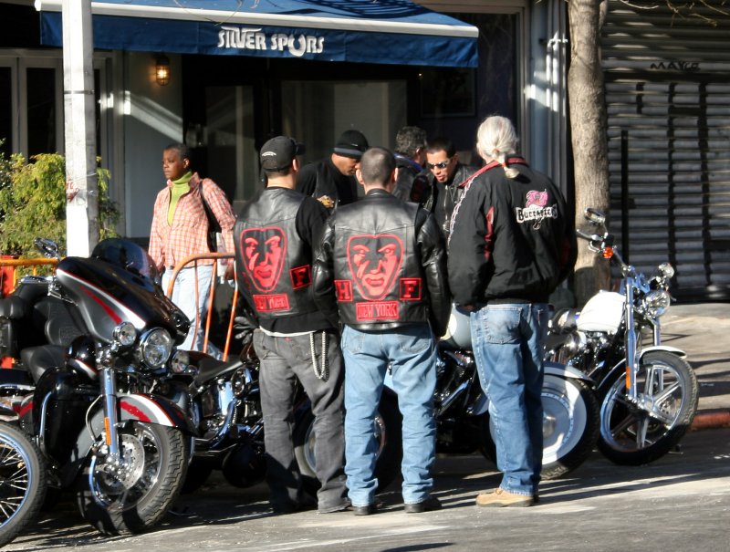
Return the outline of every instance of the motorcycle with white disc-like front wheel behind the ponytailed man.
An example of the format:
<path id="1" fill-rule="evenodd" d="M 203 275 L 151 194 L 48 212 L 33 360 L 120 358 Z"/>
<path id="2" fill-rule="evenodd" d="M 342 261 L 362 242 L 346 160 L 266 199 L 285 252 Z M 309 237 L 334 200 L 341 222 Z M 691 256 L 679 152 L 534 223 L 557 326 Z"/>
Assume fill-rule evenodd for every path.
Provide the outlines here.
<path id="1" fill-rule="evenodd" d="M 479 451 L 495 462 L 489 399 L 482 391 L 476 371 L 469 324 L 469 314 L 454 307 L 448 332 L 439 342 L 434 393 L 436 452 L 464 454 Z M 381 442 L 381 453 L 376 463 L 381 489 L 401 471 L 401 413 L 389 380 L 386 376 L 375 431 L 375 434 L 382 432 L 387 436 L 385 443 Z M 555 479 L 577 468 L 596 444 L 599 404 L 589 384 L 589 378 L 579 370 L 553 362 L 545 363 L 541 473 L 544 479 Z M 302 455 L 314 465 L 314 435 L 311 428 L 308 429 L 309 432 L 303 435 Z"/>

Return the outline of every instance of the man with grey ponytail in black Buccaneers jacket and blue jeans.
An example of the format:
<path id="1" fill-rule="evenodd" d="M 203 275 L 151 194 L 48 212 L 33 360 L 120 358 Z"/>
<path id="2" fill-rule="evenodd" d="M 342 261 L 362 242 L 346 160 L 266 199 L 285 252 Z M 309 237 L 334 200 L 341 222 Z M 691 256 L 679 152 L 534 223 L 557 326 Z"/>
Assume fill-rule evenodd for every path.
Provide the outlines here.
<path id="1" fill-rule="evenodd" d="M 555 184 L 516 155 L 510 120 L 485 119 L 476 147 L 486 164 L 464 183 L 448 261 L 454 302 L 471 311 L 474 359 L 503 472 L 499 488 L 478 495 L 476 504 L 529 506 L 542 469 L 547 299 L 575 264 L 573 213 Z"/>

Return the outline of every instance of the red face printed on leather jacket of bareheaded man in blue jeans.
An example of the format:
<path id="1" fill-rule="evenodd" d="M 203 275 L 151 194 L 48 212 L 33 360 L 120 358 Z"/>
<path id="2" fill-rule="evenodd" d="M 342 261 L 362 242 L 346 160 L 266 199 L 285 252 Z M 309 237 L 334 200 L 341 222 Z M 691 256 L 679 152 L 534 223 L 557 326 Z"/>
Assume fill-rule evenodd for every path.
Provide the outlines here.
<path id="1" fill-rule="evenodd" d="M 401 268 L 403 245 L 396 235 L 357 235 L 349 238 L 348 266 L 366 299 L 380 300 L 393 286 Z"/>

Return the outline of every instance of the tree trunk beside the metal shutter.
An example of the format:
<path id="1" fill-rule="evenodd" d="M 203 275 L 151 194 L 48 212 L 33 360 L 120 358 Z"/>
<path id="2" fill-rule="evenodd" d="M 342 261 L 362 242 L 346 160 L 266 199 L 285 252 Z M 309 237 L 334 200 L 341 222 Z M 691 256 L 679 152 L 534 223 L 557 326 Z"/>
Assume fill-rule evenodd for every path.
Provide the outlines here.
<path id="1" fill-rule="evenodd" d="M 576 227 L 584 228 L 583 212 L 594 207 L 609 214 L 607 113 L 600 65 L 600 26 L 607 0 L 568 0 L 570 67 L 568 107 L 575 174 Z M 579 240 L 575 268 L 578 307 L 598 289 L 610 285 L 609 261 Z"/>

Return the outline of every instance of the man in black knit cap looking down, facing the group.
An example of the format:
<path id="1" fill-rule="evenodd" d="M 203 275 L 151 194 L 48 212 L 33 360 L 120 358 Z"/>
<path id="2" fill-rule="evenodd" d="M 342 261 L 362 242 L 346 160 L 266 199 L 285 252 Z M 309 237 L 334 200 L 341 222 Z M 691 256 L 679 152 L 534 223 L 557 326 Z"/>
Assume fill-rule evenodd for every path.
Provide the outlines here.
<path id="1" fill-rule="evenodd" d="M 311 195 L 328 210 L 358 199 L 355 171 L 368 139 L 360 130 L 345 130 L 328 158 L 308 163 L 297 176 L 297 190 Z"/>

